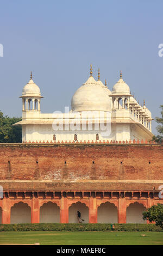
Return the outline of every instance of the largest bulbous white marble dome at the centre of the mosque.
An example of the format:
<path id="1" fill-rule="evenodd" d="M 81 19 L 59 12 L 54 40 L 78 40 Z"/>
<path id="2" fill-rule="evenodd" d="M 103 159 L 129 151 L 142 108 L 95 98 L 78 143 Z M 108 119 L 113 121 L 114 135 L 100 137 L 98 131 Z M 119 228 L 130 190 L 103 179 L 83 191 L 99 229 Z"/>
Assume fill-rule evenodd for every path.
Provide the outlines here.
<path id="1" fill-rule="evenodd" d="M 71 100 L 72 111 L 111 111 L 109 90 L 104 88 L 90 76 L 89 79 L 74 93 Z"/>

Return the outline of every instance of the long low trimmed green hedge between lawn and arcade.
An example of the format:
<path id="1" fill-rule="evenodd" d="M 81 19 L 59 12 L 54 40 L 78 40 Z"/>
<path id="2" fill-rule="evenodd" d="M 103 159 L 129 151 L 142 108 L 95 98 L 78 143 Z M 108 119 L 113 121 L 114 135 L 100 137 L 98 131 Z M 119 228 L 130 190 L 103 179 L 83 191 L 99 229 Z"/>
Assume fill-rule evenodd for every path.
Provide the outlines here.
<path id="1" fill-rule="evenodd" d="M 109 223 L 22 223 L 0 224 L 0 231 L 111 231 Z M 155 224 L 115 224 L 115 231 L 163 231 Z"/>

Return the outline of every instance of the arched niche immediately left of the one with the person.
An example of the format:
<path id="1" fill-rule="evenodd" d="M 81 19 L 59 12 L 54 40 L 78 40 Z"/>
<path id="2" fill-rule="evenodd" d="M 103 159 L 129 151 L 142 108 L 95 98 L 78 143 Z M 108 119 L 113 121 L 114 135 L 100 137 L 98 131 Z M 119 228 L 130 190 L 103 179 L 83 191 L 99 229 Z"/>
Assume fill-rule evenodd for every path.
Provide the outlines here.
<path id="1" fill-rule="evenodd" d="M 57 204 L 48 202 L 40 207 L 40 223 L 59 223 L 60 208 Z"/>

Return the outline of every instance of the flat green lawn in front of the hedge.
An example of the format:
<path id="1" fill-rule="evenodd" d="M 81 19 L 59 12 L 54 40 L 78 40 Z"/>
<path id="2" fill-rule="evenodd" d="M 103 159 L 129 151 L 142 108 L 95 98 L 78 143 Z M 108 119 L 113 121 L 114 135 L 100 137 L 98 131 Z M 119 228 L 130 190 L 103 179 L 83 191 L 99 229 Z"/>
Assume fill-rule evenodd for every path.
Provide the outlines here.
<path id="1" fill-rule="evenodd" d="M 141 236 L 145 234 L 146 236 Z M 163 232 L 2 231 L 0 245 L 163 245 Z"/>

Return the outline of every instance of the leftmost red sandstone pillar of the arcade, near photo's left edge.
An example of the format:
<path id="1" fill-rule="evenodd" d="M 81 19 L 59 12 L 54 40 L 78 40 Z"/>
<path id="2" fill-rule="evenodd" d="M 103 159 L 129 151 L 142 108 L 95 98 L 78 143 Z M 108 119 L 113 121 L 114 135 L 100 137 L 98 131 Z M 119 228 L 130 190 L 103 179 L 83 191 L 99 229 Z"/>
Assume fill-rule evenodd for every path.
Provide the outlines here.
<path id="1" fill-rule="evenodd" d="M 2 224 L 10 224 L 10 199 L 7 197 L 3 198 L 3 208 L 2 208 Z"/>

